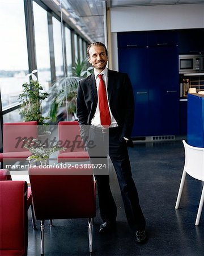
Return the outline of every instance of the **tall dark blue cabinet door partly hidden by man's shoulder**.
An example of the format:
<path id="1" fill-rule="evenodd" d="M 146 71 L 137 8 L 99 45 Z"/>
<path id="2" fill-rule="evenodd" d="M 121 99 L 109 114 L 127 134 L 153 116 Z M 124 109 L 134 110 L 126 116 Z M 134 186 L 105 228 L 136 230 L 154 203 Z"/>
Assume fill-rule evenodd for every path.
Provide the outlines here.
<path id="1" fill-rule="evenodd" d="M 133 85 L 135 118 L 132 137 L 147 136 L 149 84 L 147 48 L 119 48 L 118 60 L 119 71 L 128 73 Z"/>

